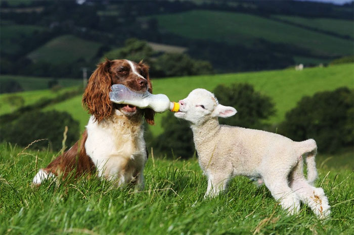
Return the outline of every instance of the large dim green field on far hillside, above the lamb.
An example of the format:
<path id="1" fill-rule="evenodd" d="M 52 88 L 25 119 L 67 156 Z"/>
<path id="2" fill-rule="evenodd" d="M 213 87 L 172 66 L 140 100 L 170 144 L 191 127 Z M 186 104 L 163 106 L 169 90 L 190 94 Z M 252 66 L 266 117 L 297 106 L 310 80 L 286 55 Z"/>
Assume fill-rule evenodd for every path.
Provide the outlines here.
<path id="1" fill-rule="evenodd" d="M 196 10 L 157 15 L 154 18 L 164 31 L 187 38 L 234 42 L 248 46 L 252 45 L 254 39 L 262 38 L 306 48 L 317 55 L 353 53 L 353 43 L 350 40 L 250 14 Z"/>

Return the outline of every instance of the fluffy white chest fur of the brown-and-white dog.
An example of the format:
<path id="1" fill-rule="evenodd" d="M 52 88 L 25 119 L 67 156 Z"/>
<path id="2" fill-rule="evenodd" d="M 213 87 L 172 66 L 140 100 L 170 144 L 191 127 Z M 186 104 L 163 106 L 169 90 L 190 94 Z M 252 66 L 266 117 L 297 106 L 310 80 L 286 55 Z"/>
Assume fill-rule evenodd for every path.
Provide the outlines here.
<path id="1" fill-rule="evenodd" d="M 137 186 L 144 188 L 147 155 L 142 122 L 131 122 L 119 110 L 100 123 L 91 116 L 86 126 L 85 149 L 96 165 L 99 177 L 116 181 L 117 186 L 137 181 Z"/>

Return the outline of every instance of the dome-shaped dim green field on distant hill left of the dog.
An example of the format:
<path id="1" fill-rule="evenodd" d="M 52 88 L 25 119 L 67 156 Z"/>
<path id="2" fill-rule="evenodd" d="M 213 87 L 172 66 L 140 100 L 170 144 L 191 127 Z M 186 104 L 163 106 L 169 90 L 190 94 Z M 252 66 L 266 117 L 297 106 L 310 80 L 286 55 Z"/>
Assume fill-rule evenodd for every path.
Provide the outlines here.
<path id="1" fill-rule="evenodd" d="M 82 58 L 85 61 L 91 60 L 101 46 L 98 42 L 83 40 L 73 35 L 64 35 L 47 42 L 40 48 L 28 54 L 34 62 L 46 62 L 53 64 L 71 63 Z"/>

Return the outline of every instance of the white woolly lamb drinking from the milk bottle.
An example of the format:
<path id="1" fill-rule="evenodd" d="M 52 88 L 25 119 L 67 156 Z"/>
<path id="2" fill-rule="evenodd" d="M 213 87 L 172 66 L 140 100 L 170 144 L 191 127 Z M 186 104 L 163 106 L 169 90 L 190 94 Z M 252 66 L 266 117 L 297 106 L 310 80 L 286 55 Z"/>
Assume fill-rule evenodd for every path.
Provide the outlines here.
<path id="1" fill-rule="evenodd" d="M 227 189 L 231 178 L 245 175 L 264 183 L 290 214 L 299 212 L 302 201 L 319 218 L 328 218 L 328 199 L 322 188 L 314 187 L 315 140 L 295 142 L 270 132 L 219 125 L 218 117 L 227 118 L 236 112 L 233 107 L 218 104 L 211 92 L 195 89 L 180 100 L 180 111 L 174 114 L 191 125 L 199 165 L 208 179 L 205 197 L 218 195 Z"/>

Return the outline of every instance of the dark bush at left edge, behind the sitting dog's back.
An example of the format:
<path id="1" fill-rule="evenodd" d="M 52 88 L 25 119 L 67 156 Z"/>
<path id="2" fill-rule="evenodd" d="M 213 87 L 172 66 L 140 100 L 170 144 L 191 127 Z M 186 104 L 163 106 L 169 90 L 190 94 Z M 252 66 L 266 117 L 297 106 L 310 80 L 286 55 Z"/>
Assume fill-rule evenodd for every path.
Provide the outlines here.
<path id="1" fill-rule="evenodd" d="M 79 137 L 79 123 L 69 113 L 59 111 L 33 111 L 24 113 L 14 122 L 2 126 L 1 141 L 27 146 L 39 139 L 49 139 L 53 150 L 62 148 L 63 132 L 68 126 L 66 145 L 72 145 Z M 48 147 L 48 141 L 39 141 L 34 148 Z"/>

